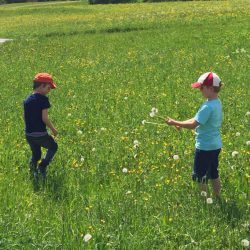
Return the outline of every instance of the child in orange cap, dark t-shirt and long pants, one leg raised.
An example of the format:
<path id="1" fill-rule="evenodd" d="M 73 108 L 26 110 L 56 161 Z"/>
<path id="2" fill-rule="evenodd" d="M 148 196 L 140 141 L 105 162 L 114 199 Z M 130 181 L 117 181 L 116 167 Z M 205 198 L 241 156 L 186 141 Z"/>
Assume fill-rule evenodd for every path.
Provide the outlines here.
<path id="1" fill-rule="evenodd" d="M 43 178 L 46 177 L 46 168 L 57 151 L 57 143 L 48 134 L 49 127 L 54 136 L 57 130 L 48 118 L 50 102 L 46 96 L 56 84 L 48 73 L 38 73 L 33 80 L 33 93 L 24 101 L 24 120 L 26 140 L 32 151 L 30 159 L 30 172 L 34 177 L 38 176 L 38 170 Z M 41 147 L 46 148 L 45 157 L 41 159 Z M 38 161 L 40 161 L 38 167 Z"/>

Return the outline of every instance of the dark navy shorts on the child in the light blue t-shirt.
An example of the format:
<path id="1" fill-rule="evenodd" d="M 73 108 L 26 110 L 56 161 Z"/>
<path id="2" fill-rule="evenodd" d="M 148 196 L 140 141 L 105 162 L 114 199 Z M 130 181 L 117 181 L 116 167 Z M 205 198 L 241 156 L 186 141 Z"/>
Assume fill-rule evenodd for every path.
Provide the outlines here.
<path id="1" fill-rule="evenodd" d="M 192 178 L 194 181 L 207 182 L 208 179 L 219 177 L 219 154 L 221 149 L 195 150 Z"/>

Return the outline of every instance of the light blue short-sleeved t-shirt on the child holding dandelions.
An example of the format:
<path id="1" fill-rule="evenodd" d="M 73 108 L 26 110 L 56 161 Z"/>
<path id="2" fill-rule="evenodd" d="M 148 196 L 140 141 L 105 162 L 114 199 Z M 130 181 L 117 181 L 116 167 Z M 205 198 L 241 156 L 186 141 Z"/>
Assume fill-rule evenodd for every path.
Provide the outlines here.
<path id="1" fill-rule="evenodd" d="M 199 123 L 199 126 L 195 129 L 195 147 L 201 150 L 216 150 L 221 148 L 221 101 L 214 99 L 204 102 L 194 119 Z"/>

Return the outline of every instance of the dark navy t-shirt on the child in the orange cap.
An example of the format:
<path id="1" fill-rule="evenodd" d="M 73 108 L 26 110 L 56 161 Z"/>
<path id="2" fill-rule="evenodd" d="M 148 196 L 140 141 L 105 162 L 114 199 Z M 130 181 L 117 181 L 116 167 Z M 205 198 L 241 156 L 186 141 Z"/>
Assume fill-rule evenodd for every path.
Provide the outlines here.
<path id="1" fill-rule="evenodd" d="M 26 134 L 46 132 L 46 124 L 42 120 L 42 110 L 50 108 L 48 97 L 35 93 L 27 97 L 23 105 Z"/>

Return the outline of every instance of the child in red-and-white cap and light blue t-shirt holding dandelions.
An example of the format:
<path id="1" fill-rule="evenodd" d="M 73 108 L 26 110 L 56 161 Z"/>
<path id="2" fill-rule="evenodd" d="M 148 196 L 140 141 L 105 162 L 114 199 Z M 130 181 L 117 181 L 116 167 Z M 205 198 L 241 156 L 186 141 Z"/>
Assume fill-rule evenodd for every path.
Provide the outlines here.
<path id="1" fill-rule="evenodd" d="M 177 128 L 195 129 L 196 150 L 192 178 L 200 183 L 201 191 L 207 193 L 207 180 L 211 179 L 215 196 L 220 196 L 221 185 L 218 173 L 219 154 L 222 147 L 220 128 L 222 124 L 222 105 L 218 98 L 221 79 L 213 72 L 200 76 L 193 88 L 200 89 L 207 99 L 194 118 L 186 121 L 166 119 L 166 123 Z"/>

